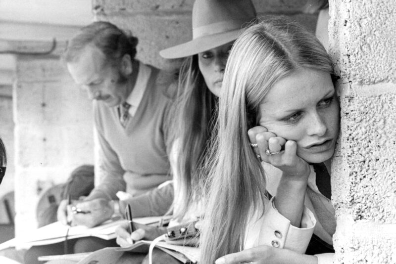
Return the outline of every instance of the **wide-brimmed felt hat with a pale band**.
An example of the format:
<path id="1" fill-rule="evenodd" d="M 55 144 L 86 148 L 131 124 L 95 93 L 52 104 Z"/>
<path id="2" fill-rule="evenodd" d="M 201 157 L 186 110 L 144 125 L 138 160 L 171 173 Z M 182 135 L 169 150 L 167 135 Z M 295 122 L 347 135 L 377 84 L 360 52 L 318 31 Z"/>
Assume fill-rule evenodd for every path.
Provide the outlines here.
<path id="1" fill-rule="evenodd" d="M 193 5 L 193 40 L 163 49 L 163 58 L 191 56 L 235 41 L 256 17 L 251 0 L 196 0 Z"/>

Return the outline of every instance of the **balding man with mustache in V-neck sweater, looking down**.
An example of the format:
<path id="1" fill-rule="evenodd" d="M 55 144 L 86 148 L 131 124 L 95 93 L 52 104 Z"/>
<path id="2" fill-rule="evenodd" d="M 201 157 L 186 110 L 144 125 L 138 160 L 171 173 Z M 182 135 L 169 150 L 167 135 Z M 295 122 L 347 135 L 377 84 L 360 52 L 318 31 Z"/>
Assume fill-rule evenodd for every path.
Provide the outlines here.
<path id="1" fill-rule="evenodd" d="M 90 214 L 73 214 L 73 223 L 95 226 L 114 213 L 117 191 L 137 196 L 170 179 L 166 131 L 174 77 L 136 60 L 137 42 L 111 23 L 94 22 L 64 53 L 73 80 L 93 100 L 101 174 L 75 204 Z M 66 211 L 62 201 L 58 219 L 65 223 Z"/>

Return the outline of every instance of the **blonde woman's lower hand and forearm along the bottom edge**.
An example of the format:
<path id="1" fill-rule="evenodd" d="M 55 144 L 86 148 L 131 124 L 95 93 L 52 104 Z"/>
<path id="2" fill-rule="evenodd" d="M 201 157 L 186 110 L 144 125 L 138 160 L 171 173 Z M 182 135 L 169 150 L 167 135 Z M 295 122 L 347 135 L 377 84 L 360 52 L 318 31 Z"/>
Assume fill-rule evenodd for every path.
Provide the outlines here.
<path id="1" fill-rule="evenodd" d="M 258 246 L 228 254 L 216 260 L 216 264 L 317 264 L 315 256 L 299 254 L 292 250 Z"/>

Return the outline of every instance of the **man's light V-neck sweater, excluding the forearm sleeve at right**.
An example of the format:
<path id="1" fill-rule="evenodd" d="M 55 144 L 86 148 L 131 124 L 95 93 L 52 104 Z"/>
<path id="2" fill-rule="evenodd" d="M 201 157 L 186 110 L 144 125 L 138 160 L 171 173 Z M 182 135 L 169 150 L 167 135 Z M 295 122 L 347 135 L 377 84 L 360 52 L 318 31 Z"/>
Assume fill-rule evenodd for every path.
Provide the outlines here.
<path id="1" fill-rule="evenodd" d="M 99 170 L 105 172 L 89 199 L 116 199 L 116 192 L 142 194 L 169 180 L 166 132 L 173 102 L 174 79 L 151 67 L 142 101 L 126 126 L 117 107 L 94 101 L 94 121 L 99 139 Z"/>

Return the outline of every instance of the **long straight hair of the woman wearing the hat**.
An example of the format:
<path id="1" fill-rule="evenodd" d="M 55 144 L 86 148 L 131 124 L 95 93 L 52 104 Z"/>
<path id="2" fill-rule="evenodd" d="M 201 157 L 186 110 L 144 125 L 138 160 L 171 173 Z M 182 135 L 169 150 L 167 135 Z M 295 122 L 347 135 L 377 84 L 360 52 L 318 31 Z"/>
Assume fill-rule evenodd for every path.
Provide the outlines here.
<path id="1" fill-rule="evenodd" d="M 182 220 L 190 205 L 202 198 L 206 153 L 217 117 L 217 97 L 207 87 L 198 67 L 198 55 L 184 59 L 179 71 L 177 100 L 173 105 L 169 145 L 178 142 L 175 170 L 174 217 Z M 169 148 L 171 149 L 171 148 Z M 177 205 L 177 206 L 175 206 Z"/>

